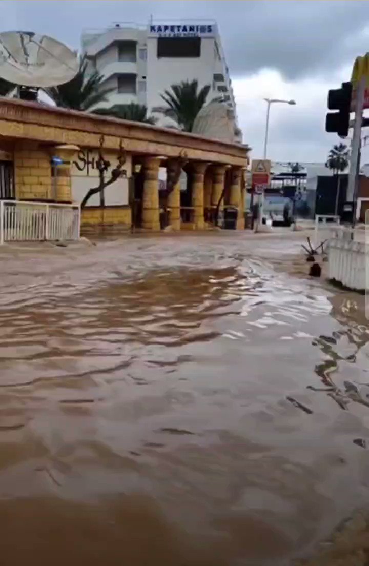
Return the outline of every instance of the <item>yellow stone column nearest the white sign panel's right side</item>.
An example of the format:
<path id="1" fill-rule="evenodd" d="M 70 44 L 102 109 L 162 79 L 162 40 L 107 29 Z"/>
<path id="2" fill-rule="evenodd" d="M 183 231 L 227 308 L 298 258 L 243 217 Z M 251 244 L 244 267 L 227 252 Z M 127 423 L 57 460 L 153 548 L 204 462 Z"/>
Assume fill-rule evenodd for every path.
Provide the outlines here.
<path id="1" fill-rule="evenodd" d="M 159 167 L 161 160 L 161 157 L 147 157 L 143 162 L 142 227 L 145 230 L 160 230 Z"/>

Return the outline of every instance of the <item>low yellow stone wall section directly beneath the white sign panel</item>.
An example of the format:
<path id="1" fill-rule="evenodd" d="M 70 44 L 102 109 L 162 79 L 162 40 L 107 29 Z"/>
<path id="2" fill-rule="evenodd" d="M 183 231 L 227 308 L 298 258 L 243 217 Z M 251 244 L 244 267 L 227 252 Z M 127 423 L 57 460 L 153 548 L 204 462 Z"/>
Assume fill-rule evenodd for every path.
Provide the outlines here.
<path id="1" fill-rule="evenodd" d="M 99 234 L 128 230 L 131 228 L 131 208 L 123 207 L 88 207 L 81 215 L 81 233 Z"/>

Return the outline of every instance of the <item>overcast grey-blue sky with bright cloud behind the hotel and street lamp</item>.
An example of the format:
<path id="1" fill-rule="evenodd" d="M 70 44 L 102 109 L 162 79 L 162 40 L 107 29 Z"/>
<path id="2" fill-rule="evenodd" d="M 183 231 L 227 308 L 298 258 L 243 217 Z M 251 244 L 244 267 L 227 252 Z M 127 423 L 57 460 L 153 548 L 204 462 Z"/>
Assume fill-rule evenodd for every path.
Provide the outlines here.
<path id="1" fill-rule="evenodd" d="M 325 161 L 339 141 L 324 132 L 328 89 L 350 80 L 355 57 L 369 49 L 369 2 L 361 0 L 0 0 L 0 8 L 2 30 L 46 33 L 74 49 L 83 28 L 111 22 L 216 20 L 253 157 L 263 152 L 263 98 L 297 102 L 272 106 L 274 161 Z"/>

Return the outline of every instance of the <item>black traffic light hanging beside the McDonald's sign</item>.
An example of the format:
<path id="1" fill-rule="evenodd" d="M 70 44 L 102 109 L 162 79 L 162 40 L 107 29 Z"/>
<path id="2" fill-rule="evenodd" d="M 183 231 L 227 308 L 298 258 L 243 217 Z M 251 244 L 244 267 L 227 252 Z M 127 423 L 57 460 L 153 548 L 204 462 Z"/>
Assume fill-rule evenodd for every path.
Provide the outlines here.
<path id="1" fill-rule="evenodd" d="M 353 85 L 342 83 L 341 88 L 328 91 L 328 109 L 339 112 L 328 112 L 325 118 L 325 131 L 336 132 L 342 138 L 349 133 L 351 93 Z"/>

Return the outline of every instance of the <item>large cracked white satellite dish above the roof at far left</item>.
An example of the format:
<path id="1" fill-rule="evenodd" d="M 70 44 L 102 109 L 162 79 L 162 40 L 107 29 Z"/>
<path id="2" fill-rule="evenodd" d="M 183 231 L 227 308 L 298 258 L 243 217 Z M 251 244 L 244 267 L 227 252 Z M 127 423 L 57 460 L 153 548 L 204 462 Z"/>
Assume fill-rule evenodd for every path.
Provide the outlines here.
<path id="1" fill-rule="evenodd" d="M 34 32 L 0 33 L 0 76 L 23 87 L 56 87 L 79 69 L 76 53 Z"/>

